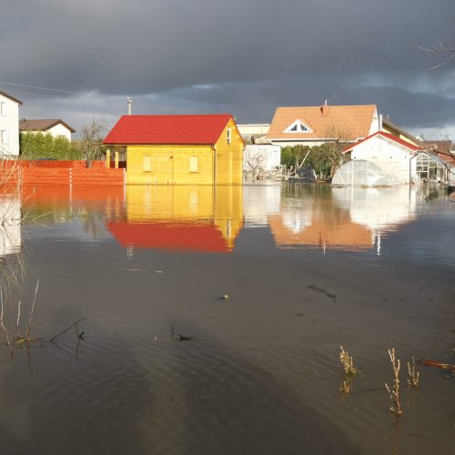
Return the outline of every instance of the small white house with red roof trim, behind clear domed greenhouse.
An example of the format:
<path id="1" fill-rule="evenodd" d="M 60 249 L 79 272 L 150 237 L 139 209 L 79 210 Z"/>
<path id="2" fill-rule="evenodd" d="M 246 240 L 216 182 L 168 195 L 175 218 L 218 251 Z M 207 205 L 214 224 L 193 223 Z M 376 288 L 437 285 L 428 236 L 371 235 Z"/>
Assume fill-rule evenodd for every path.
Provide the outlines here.
<path id="1" fill-rule="evenodd" d="M 337 174 L 333 177 L 332 184 L 334 185 L 351 185 L 349 181 L 357 180 L 358 176 L 351 176 L 354 178 L 349 179 L 345 182 L 339 182 L 339 177 L 346 174 L 347 169 L 349 172 L 361 172 L 361 169 L 365 169 L 366 172 L 371 174 L 369 179 L 365 180 L 365 186 L 377 186 L 378 182 L 380 185 L 387 185 L 387 181 L 390 185 L 409 184 L 416 178 L 417 175 L 417 161 L 413 159 L 421 151 L 421 147 L 414 146 L 397 136 L 393 136 L 384 131 L 378 131 L 371 136 L 359 141 L 347 148 L 343 153 L 350 153 L 352 161 L 362 162 L 363 165 L 370 166 L 353 166 L 354 163 L 346 163 L 340 167 Z M 379 174 L 378 170 L 382 171 L 383 176 L 393 177 L 381 179 L 378 182 L 374 180 L 373 174 Z M 374 170 L 375 172 L 372 172 Z"/>

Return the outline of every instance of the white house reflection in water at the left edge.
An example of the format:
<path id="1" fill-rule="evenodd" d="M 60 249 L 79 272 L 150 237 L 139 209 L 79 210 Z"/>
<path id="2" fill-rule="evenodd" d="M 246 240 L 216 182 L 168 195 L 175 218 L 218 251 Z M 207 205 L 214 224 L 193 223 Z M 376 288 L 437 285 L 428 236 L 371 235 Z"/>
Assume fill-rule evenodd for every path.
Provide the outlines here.
<path id="1" fill-rule="evenodd" d="M 0 197 L 0 258 L 14 254 L 21 248 L 20 197 Z"/>

